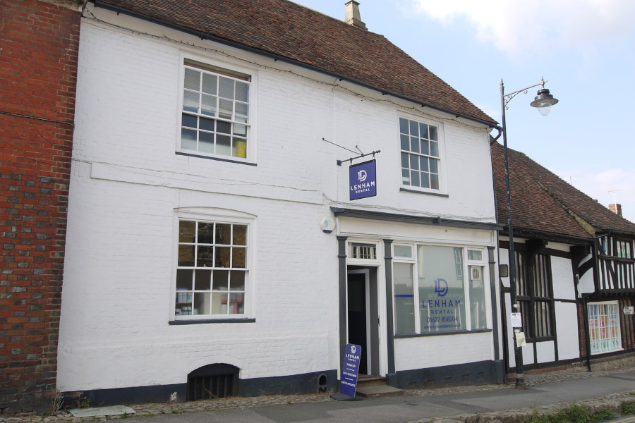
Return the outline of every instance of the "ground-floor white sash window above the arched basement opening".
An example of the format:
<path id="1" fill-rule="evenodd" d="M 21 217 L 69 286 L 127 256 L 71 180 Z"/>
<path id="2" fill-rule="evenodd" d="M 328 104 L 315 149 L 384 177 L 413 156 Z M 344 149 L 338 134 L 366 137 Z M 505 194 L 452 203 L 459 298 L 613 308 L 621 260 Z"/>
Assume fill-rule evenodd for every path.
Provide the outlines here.
<path id="1" fill-rule="evenodd" d="M 177 319 L 244 316 L 248 228 L 243 223 L 179 220 Z"/>

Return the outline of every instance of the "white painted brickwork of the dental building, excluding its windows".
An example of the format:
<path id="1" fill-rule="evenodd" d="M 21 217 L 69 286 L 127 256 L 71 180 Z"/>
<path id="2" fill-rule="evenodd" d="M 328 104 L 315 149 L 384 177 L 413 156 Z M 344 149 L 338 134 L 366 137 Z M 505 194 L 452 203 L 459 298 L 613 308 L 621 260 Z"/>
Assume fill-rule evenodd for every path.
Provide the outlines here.
<path id="1" fill-rule="evenodd" d="M 133 18 L 94 13 L 142 32 L 200 43 Z M 183 57 L 253 75 L 257 166 L 175 154 Z M 336 233 L 319 228 L 330 206 L 495 221 L 485 129 L 436 122 L 445 137 L 449 197 L 399 192 L 398 120 L 416 115 L 297 75 L 91 20 L 82 25 L 75 116 L 59 340 L 63 391 L 182 384 L 189 372 L 212 363 L 239 367 L 241 379 L 337 369 L 337 240 Z M 376 157 L 377 197 L 349 203 L 348 166 L 336 161 L 351 154 L 322 138 L 350 149 L 358 145 L 363 152 L 382 150 Z M 168 324 L 174 319 L 177 216 L 192 208 L 255 216 L 247 301 L 247 315 L 255 322 Z M 353 221 L 338 231 L 495 245 L 491 231 L 413 232 L 402 224 L 374 225 Z M 432 342 L 440 342 L 442 357 L 421 361 L 418 348 L 428 350 Z M 403 369 L 493 357 L 491 333 L 396 345 Z"/>

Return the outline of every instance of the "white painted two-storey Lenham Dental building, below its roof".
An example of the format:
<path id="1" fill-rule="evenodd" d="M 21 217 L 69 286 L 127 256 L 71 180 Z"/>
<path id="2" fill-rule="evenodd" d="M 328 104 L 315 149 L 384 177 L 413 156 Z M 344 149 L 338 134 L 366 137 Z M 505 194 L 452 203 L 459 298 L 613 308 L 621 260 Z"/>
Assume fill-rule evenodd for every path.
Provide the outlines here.
<path id="1" fill-rule="evenodd" d="M 105 3 L 81 26 L 62 391 L 335 390 L 346 343 L 393 386 L 502 377 L 491 118 Z M 377 195 L 350 200 L 357 150 Z"/>

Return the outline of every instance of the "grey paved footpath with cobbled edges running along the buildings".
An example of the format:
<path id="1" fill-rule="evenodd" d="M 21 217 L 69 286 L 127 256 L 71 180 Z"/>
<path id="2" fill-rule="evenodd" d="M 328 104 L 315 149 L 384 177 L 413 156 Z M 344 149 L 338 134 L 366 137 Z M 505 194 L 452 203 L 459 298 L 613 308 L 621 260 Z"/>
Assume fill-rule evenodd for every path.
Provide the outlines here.
<path id="1" fill-rule="evenodd" d="M 516 389 L 514 385 L 490 384 L 409 390 L 403 396 L 361 401 L 337 401 L 329 394 L 314 394 L 130 406 L 135 410 L 133 423 L 516 423 L 535 412 L 555 413 L 571 403 L 608 407 L 619 416 L 622 402 L 635 401 L 635 367 L 526 374 L 526 386 Z M 131 415 L 79 419 L 68 412 L 57 412 L 46 417 L 1 416 L 0 423 L 80 423 L 128 417 Z"/>

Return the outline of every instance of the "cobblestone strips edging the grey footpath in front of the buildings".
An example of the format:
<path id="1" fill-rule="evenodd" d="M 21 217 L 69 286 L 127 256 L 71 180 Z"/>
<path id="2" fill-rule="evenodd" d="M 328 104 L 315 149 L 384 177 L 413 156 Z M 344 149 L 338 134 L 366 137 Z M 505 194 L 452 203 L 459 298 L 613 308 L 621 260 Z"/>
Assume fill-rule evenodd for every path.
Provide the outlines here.
<path id="1" fill-rule="evenodd" d="M 635 370 L 635 367 L 622 367 L 620 369 L 611 369 L 611 370 L 600 370 L 588 372 L 586 367 L 574 367 L 566 370 L 560 370 L 556 372 L 547 372 L 540 374 L 525 374 L 525 384 L 526 386 L 536 386 L 540 384 L 545 384 L 549 382 L 556 381 L 564 381 L 567 379 L 581 379 L 581 378 L 589 378 L 595 376 L 605 376 L 610 374 L 618 374 L 622 372 L 629 372 Z M 485 384 L 485 385 L 470 385 L 470 386 L 448 386 L 444 388 L 430 388 L 430 389 L 411 389 L 405 392 L 407 396 L 433 396 L 433 395 L 443 395 L 447 393 L 465 393 L 465 392 L 477 392 L 477 391 L 490 391 L 495 389 L 510 389 L 514 388 L 514 384 Z M 607 398 L 603 398 L 604 403 L 619 400 L 619 398 L 626 397 L 627 394 L 624 393 L 616 393 L 615 396 L 609 396 Z M 630 397 L 632 398 L 632 396 Z M 629 399 L 630 399 L 629 398 Z M 186 403 L 145 403 L 145 404 L 134 404 L 130 405 L 133 410 L 135 410 L 135 416 L 154 416 L 154 415 L 164 415 L 164 414 L 181 414 L 185 412 L 206 412 L 206 411 L 214 411 L 214 410 L 232 410 L 232 409 L 243 409 L 247 407 L 259 407 L 262 405 L 284 405 L 284 404 L 296 404 L 296 403 L 311 403 L 311 402 L 321 402 L 331 400 L 330 393 L 315 393 L 309 395 L 290 395 L 290 396 L 259 396 L 259 397 L 250 397 L 250 398 L 220 398 L 217 400 L 200 400 L 200 401 L 189 401 Z M 595 403 L 598 400 L 590 400 L 589 403 L 593 405 L 593 401 Z M 522 410 L 509 410 L 509 413 L 516 413 L 516 415 Z M 545 412 L 545 410 L 540 410 L 541 412 Z M 524 411 L 526 413 L 526 410 Z M 529 410 L 529 412 L 533 412 Z M 494 413 L 484 413 L 485 418 L 481 416 L 478 419 L 478 422 L 494 422 L 501 421 L 502 412 L 494 412 Z M 490 418 L 487 417 L 488 414 L 492 414 Z M 496 414 L 496 415 L 494 415 Z M 112 420 L 112 419 L 122 419 L 131 417 L 130 415 L 119 415 L 119 416 L 109 416 L 109 417 L 85 417 L 78 418 L 73 417 L 70 412 L 59 411 L 54 414 L 49 415 L 36 415 L 34 413 L 24 413 L 18 415 L 7 415 L 0 416 L 0 423 L 81 423 L 81 422 L 92 422 L 92 421 L 102 421 L 102 420 Z M 473 417 L 473 416 L 472 416 Z M 461 415 L 455 417 L 447 417 L 443 420 L 435 420 L 437 423 L 441 422 L 470 422 L 471 417 L 468 415 Z M 514 419 L 509 419 L 509 416 L 506 421 L 514 421 Z M 476 422 L 476 420 L 474 420 Z"/>

